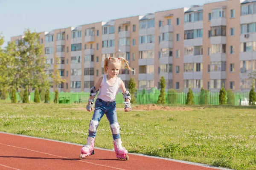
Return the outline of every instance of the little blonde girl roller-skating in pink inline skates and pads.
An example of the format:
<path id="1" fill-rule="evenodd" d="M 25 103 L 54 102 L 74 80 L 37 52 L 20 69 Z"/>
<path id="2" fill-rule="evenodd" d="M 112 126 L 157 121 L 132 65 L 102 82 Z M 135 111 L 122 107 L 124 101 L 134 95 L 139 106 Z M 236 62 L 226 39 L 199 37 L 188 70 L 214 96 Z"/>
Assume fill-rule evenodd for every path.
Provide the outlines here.
<path id="1" fill-rule="evenodd" d="M 87 144 L 81 148 L 80 159 L 85 158 L 94 154 L 94 142 L 96 136 L 96 130 L 99 126 L 99 122 L 102 116 L 106 114 L 113 136 L 113 143 L 116 152 L 117 159 L 128 160 L 127 150 L 122 147 L 122 141 L 120 137 L 120 127 L 117 121 L 116 115 L 116 94 L 119 88 L 122 90 L 123 98 L 125 99 L 125 112 L 131 111 L 131 95 L 130 92 L 126 90 L 124 82 L 117 77 L 120 69 L 127 68 L 133 71 L 128 65 L 128 61 L 122 57 L 119 58 L 105 58 L 104 60 L 104 74 L 99 78 L 95 86 L 91 88 L 90 98 L 88 99 L 88 104 L 86 106 L 87 111 L 93 110 L 94 97 L 98 94 L 95 102 L 95 110 L 93 113 L 93 118 L 89 125 L 89 135 L 87 138 Z"/>

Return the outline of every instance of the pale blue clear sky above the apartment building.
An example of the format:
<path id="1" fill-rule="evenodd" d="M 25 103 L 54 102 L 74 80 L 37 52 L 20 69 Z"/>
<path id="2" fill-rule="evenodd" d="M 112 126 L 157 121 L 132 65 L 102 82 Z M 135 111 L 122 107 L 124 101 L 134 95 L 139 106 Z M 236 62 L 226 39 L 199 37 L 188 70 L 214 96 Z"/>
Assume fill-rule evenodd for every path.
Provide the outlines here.
<path id="1" fill-rule="evenodd" d="M 52 31 L 87 23 L 203 5 L 218 0 L 0 0 L 0 33 L 7 41 L 32 31 Z"/>

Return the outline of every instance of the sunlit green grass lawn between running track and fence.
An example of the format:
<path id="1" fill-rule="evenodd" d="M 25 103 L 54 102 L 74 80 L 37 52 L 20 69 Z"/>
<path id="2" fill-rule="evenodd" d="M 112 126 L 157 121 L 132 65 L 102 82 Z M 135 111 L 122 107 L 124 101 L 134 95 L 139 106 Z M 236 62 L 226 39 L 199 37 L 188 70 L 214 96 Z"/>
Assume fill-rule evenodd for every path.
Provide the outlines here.
<path id="1" fill-rule="evenodd" d="M 72 108 L 85 105 L 0 102 L 0 131 L 85 144 L 93 113 Z M 237 170 L 256 169 L 255 107 L 193 108 L 194 111 L 118 111 L 123 147 L 130 153 Z M 96 147 L 113 149 L 106 116 L 97 130 Z"/>

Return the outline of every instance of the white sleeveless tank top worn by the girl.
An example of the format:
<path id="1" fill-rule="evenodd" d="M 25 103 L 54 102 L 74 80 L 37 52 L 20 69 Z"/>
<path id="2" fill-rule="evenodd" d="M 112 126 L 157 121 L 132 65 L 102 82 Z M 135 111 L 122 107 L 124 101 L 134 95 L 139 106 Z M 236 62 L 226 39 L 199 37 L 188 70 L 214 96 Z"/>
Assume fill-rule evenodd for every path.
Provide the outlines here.
<path id="1" fill-rule="evenodd" d="M 113 85 L 110 85 L 107 82 L 107 75 L 103 75 L 102 77 L 103 79 L 99 86 L 99 94 L 97 98 L 102 99 L 104 101 L 113 102 L 116 100 L 118 89 L 121 86 L 121 79 L 120 77 L 116 77 L 116 82 Z"/>

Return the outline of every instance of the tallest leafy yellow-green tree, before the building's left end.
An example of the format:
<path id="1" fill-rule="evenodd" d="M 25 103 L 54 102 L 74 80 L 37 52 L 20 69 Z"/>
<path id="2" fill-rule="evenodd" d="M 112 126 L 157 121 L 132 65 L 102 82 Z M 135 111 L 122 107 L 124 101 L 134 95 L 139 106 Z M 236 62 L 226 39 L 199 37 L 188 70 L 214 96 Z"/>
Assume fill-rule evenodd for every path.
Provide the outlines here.
<path id="1" fill-rule="evenodd" d="M 19 41 L 18 51 L 19 84 L 23 88 L 27 87 L 30 94 L 30 91 L 40 84 L 39 82 L 44 82 L 43 74 L 47 68 L 46 58 L 42 57 L 43 46 L 39 44 L 39 33 L 25 30 L 23 40 Z"/>

